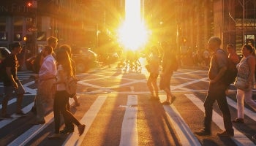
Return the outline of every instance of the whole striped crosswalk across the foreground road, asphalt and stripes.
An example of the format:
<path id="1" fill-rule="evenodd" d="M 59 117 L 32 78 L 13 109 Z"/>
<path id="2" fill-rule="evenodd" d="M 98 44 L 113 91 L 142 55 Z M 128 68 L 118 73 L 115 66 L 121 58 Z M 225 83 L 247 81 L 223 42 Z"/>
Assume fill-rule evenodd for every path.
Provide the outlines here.
<path id="1" fill-rule="evenodd" d="M 165 101 L 165 94 L 161 93 L 159 97 L 161 102 Z M 77 112 L 75 112 L 75 114 L 80 118 L 80 123 L 86 124 L 86 130 L 82 134 L 82 136 L 79 137 L 78 129 L 75 128 L 75 131 L 72 134 L 67 135 L 67 137 L 61 139 L 58 145 L 89 145 L 91 143 L 85 142 L 85 139 L 86 141 L 91 140 L 91 142 L 94 143 L 95 139 L 97 139 L 98 137 L 102 136 L 101 139 L 103 139 L 104 137 L 108 137 L 108 131 L 116 132 L 117 135 L 113 134 L 111 136 L 112 138 L 115 137 L 113 139 L 116 140 L 110 141 L 108 143 L 108 140 L 105 139 L 105 141 L 107 142 L 104 145 L 206 145 L 204 141 L 207 139 L 207 137 L 203 137 L 203 139 L 202 137 L 197 137 L 194 134 L 195 126 L 193 126 L 193 124 L 195 125 L 195 123 L 191 123 L 189 122 L 191 120 L 188 120 L 189 118 L 193 118 L 189 117 L 195 114 L 192 114 L 192 112 L 197 112 L 196 114 L 200 115 L 201 117 L 204 112 L 203 101 L 194 93 L 179 93 L 177 95 L 176 101 L 171 105 L 158 104 L 156 101 L 153 101 L 156 103 L 151 103 L 152 101 L 146 100 L 145 96 L 136 93 L 121 95 L 84 95 L 81 93 L 79 94 L 78 98 L 81 103 L 85 104 L 85 106 L 78 107 L 77 112 L 80 114 L 77 115 Z M 186 104 L 189 106 L 185 106 L 184 108 L 187 108 L 187 112 L 190 112 L 191 114 L 184 114 L 185 112 L 181 110 L 181 98 L 186 98 Z M 72 102 L 73 100 L 69 99 L 69 103 L 72 104 Z M 230 97 L 227 96 L 227 102 L 230 107 L 232 107 L 230 108 L 230 110 L 236 112 L 236 101 L 230 99 Z M 11 99 L 9 101 L 8 107 L 12 106 L 12 104 L 15 104 L 15 99 Z M 32 106 L 33 102 L 31 100 L 31 103 L 27 103 L 23 107 L 23 111 L 29 113 L 29 110 Z M 164 143 L 157 143 L 157 140 L 154 140 L 153 137 L 159 137 L 157 136 L 159 134 L 159 131 L 157 131 L 157 133 L 154 133 L 153 129 L 155 128 L 154 126 L 156 126 L 160 122 L 157 121 L 156 118 L 159 118 L 159 116 L 161 115 L 161 113 L 159 112 L 158 114 L 160 115 L 156 115 L 156 117 L 154 117 L 153 113 L 147 113 L 150 111 L 154 112 L 155 109 L 151 109 L 154 107 L 156 107 L 156 109 L 162 109 L 164 111 L 163 113 L 167 117 L 167 121 L 170 122 L 170 127 L 173 129 L 161 129 L 161 127 L 157 128 L 161 129 L 159 131 L 169 136 L 170 133 L 174 131 L 175 134 L 172 134 L 172 136 L 177 139 L 174 139 L 174 142 L 170 140 L 173 139 L 173 137 L 165 138 L 169 141 L 166 140 L 167 142 Z M 220 115 L 217 110 L 218 109 L 214 109 L 213 112 L 213 123 L 214 125 L 216 125 L 214 126 L 214 128 L 224 130 L 222 115 Z M 108 115 L 108 113 L 111 113 L 110 117 L 113 117 L 113 119 L 118 119 L 118 121 L 111 120 L 111 118 L 106 116 Z M 249 108 L 245 108 L 244 113 L 248 118 L 248 123 L 255 123 L 255 112 L 253 112 Z M 114 118 L 115 116 L 117 116 L 118 118 Z M 20 134 L 18 134 L 16 137 L 13 137 L 12 139 L 6 139 L 7 137 L 10 137 L 10 134 L 4 134 L 3 129 L 7 129 L 8 127 L 12 128 L 12 125 L 18 124 L 19 121 L 24 121 L 24 118 L 15 117 L 8 120 L 0 120 L 0 143 L 5 142 L 1 143 L 0 145 L 39 145 L 40 143 L 42 145 L 55 144 L 54 141 L 50 141 L 49 139 L 47 139 L 47 136 L 53 131 L 54 127 L 53 112 L 49 112 L 48 115 L 45 116 L 45 120 L 46 123 L 42 125 L 25 126 L 25 128 L 22 129 L 22 132 L 20 132 Z M 28 121 L 31 121 L 31 119 L 28 119 Z M 109 123 L 110 121 L 117 123 Z M 157 123 L 154 123 L 154 121 L 157 121 Z M 145 124 L 147 125 L 145 126 Z M 110 125 L 110 127 L 108 125 Z M 115 125 L 116 127 L 111 127 L 111 125 Z M 95 127 L 97 127 L 97 129 L 95 129 Z M 230 139 L 220 139 L 213 135 L 211 136 L 211 138 L 214 138 L 211 140 L 214 141 L 217 145 L 230 145 L 230 142 L 234 145 L 255 145 L 255 142 L 252 140 L 252 131 L 255 132 L 255 128 L 251 129 L 252 131 L 250 131 L 250 133 L 248 130 L 244 130 L 244 128 L 241 128 L 239 126 L 234 126 L 233 128 L 235 130 L 234 137 Z M 9 130 L 15 132 L 15 129 Z M 149 135 L 150 137 L 146 138 L 143 137 L 143 135 Z M 88 139 L 87 137 L 95 137 L 95 139 Z M 225 140 L 227 142 L 225 142 Z M 99 143 L 94 143 L 94 145 L 103 144 L 100 141 Z"/>

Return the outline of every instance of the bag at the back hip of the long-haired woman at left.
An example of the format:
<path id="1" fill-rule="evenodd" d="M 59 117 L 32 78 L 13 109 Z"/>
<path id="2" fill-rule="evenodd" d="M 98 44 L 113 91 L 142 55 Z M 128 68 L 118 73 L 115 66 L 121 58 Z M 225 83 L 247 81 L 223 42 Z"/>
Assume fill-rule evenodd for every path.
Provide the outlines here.
<path id="1" fill-rule="evenodd" d="M 69 93 L 69 97 L 73 97 L 76 94 L 77 88 L 78 88 L 78 78 L 75 76 L 69 76 L 67 77 L 67 80 L 65 82 L 65 87 L 67 93 Z"/>

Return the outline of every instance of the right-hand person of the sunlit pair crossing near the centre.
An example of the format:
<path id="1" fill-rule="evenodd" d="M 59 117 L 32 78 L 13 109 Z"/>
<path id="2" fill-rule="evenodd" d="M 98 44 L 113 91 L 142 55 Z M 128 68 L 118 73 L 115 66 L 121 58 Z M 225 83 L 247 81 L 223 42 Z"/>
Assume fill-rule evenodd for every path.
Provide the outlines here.
<path id="1" fill-rule="evenodd" d="M 162 57 L 162 73 L 160 74 L 159 88 L 160 90 L 165 91 L 166 100 L 162 104 L 170 105 L 176 99 L 176 96 L 173 96 L 170 91 L 170 79 L 173 76 L 174 69 L 173 67 L 178 64 L 176 60 L 176 53 L 167 46 L 163 44 L 163 57 Z"/>

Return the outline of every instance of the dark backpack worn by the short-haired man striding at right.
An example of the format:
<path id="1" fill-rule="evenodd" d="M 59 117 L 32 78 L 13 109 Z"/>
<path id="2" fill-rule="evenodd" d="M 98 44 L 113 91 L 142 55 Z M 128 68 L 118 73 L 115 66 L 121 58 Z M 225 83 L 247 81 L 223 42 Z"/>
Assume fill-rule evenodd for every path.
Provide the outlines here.
<path id="1" fill-rule="evenodd" d="M 216 62 L 218 63 L 218 61 Z M 233 63 L 233 61 L 230 58 L 227 58 L 227 70 L 225 74 L 222 76 L 221 80 L 225 83 L 225 85 L 230 85 L 232 82 L 236 80 L 237 72 L 238 70 L 236 69 L 236 64 Z"/>

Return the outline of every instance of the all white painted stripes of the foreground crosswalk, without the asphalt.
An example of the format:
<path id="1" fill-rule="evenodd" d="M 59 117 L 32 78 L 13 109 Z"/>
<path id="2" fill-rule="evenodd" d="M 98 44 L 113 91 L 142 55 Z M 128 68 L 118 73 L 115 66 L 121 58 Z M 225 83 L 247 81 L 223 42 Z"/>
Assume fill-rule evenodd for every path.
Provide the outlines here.
<path id="1" fill-rule="evenodd" d="M 203 107 L 203 101 L 197 98 L 194 94 L 184 94 L 187 99 L 191 101 L 191 104 L 194 104 L 200 111 L 204 112 Z M 160 94 L 160 101 L 165 100 L 165 94 Z M 78 96 L 79 98 L 79 96 Z M 122 126 L 120 129 L 121 137 L 120 137 L 120 143 L 119 145 L 123 146 L 132 146 L 132 145 L 139 145 L 139 135 L 138 135 L 138 122 L 137 122 L 137 114 L 138 114 L 138 98 L 140 98 L 140 95 L 137 94 L 128 94 L 127 95 L 127 105 L 124 105 L 125 107 L 125 113 L 124 118 L 122 122 Z M 105 101 L 108 100 L 108 95 L 100 95 L 97 96 L 97 99 L 91 104 L 90 109 L 84 113 L 83 118 L 80 119 L 80 123 L 86 124 L 86 130 L 82 134 L 82 136 L 78 136 L 78 129 L 75 128 L 75 131 L 72 134 L 69 134 L 69 136 L 65 139 L 64 143 L 62 145 L 81 145 L 83 142 L 83 139 L 86 137 L 86 134 L 88 134 L 89 128 L 91 127 L 92 123 L 94 123 L 94 119 L 96 118 L 99 110 L 104 105 Z M 73 100 L 70 99 L 69 103 L 72 104 Z M 227 97 L 227 102 L 230 104 L 231 107 L 236 109 L 236 101 L 233 101 Z M 14 104 L 15 100 L 10 100 L 9 104 Z M 27 105 L 26 107 L 23 107 L 24 112 L 29 112 L 29 109 L 32 107 L 32 103 Z M 1 105 L 0 105 L 1 109 Z M 179 142 L 181 145 L 201 145 L 201 142 L 195 134 L 193 134 L 192 130 L 189 128 L 188 124 L 182 117 L 181 113 L 178 112 L 176 109 L 176 106 L 174 104 L 169 105 L 163 105 L 163 109 L 165 110 L 165 113 L 167 115 L 167 118 L 169 118 L 170 123 L 173 125 L 174 131 L 176 131 Z M 245 108 L 244 111 L 245 115 L 252 118 L 252 120 L 256 121 L 256 114 L 255 112 L 252 112 L 251 110 Z M 8 124 L 12 124 L 13 121 L 18 120 L 18 118 L 12 118 L 10 120 L 1 120 L 0 121 L 0 129 L 4 126 L 7 126 Z M 43 125 L 36 125 L 31 126 L 31 128 L 27 129 L 23 132 L 23 134 L 20 134 L 20 136 L 16 137 L 12 142 L 10 142 L 10 146 L 13 145 L 27 145 L 31 139 L 34 139 L 34 137 L 37 137 L 38 134 L 40 134 L 45 128 L 47 128 L 51 123 L 53 123 L 53 112 L 50 112 L 50 114 L 46 115 L 45 117 L 46 123 Z M 104 122 L 104 120 L 102 120 Z M 217 126 L 219 126 L 220 129 L 224 129 L 223 126 L 223 119 L 222 116 L 219 115 L 217 112 L 213 112 L 213 122 L 216 123 Z M 255 145 L 254 142 L 252 142 L 251 139 L 246 137 L 246 135 L 239 131 L 234 127 L 235 136 L 231 139 L 233 142 L 236 143 L 236 145 Z"/>

